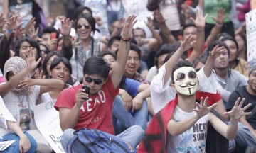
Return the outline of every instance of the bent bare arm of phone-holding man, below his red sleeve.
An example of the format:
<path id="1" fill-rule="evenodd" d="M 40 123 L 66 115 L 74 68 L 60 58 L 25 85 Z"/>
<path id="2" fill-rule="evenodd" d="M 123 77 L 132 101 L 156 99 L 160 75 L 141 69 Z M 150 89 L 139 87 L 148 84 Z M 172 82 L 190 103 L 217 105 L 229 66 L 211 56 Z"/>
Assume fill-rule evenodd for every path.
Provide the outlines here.
<path id="1" fill-rule="evenodd" d="M 69 113 L 65 114 L 63 118 L 60 118 L 60 128 L 64 131 L 68 128 L 74 128 L 78 123 L 80 107 L 75 104 Z"/>

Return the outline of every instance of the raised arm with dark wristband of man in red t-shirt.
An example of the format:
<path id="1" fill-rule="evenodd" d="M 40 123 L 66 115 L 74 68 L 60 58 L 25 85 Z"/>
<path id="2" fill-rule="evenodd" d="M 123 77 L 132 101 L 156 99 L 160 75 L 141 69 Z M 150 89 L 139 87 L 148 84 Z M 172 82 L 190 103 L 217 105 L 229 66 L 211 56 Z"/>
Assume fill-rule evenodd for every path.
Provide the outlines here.
<path id="1" fill-rule="evenodd" d="M 127 63 L 127 57 L 129 55 L 130 42 L 129 38 L 132 35 L 132 27 L 137 22 L 136 16 L 128 16 L 124 21 L 124 28 L 122 29 L 122 40 L 117 53 L 117 62 L 114 64 L 111 73 L 111 79 L 113 81 L 114 89 L 117 89 L 119 83 L 124 74 L 124 67 Z"/>

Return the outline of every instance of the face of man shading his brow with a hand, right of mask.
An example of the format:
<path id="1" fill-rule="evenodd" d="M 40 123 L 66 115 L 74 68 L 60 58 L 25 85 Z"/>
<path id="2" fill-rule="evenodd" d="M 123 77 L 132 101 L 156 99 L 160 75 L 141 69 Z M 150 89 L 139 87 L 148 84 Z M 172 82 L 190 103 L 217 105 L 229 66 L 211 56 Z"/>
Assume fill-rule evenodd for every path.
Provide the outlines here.
<path id="1" fill-rule="evenodd" d="M 216 58 L 214 62 L 215 69 L 227 69 L 228 68 L 228 51 L 226 50 L 219 57 Z"/>

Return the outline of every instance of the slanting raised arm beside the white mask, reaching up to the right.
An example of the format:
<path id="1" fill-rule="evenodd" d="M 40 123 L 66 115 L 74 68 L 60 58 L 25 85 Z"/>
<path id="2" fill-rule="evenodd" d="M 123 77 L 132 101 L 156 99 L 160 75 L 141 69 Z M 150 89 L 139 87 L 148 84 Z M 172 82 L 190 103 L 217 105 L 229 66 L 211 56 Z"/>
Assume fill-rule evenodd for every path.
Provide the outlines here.
<path id="1" fill-rule="evenodd" d="M 178 62 L 178 59 L 183 55 L 183 52 L 188 50 L 193 46 L 195 41 L 193 41 L 193 36 L 188 36 L 183 42 L 181 42 L 181 47 L 176 50 L 174 55 L 171 56 L 171 58 L 166 62 L 165 69 L 166 73 L 164 74 L 164 84 L 166 84 L 166 81 L 171 77 L 171 72 L 174 67 L 174 64 Z"/>

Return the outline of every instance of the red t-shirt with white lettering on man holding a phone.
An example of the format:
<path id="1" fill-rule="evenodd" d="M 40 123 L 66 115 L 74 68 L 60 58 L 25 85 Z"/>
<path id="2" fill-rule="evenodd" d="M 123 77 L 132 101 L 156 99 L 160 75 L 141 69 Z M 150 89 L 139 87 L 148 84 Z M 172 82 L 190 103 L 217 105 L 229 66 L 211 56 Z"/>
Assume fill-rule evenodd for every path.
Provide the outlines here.
<path id="1" fill-rule="evenodd" d="M 63 90 L 55 103 L 55 109 L 65 107 L 72 109 L 75 105 L 75 94 L 82 84 Z M 95 96 L 90 96 L 90 100 L 85 101 L 80 108 L 78 123 L 74 129 L 80 128 L 97 129 L 114 135 L 112 125 L 112 105 L 114 98 L 119 93 L 119 87 L 114 90 L 112 79 L 108 77 L 106 84 Z"/>

